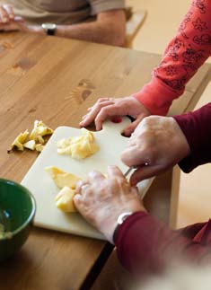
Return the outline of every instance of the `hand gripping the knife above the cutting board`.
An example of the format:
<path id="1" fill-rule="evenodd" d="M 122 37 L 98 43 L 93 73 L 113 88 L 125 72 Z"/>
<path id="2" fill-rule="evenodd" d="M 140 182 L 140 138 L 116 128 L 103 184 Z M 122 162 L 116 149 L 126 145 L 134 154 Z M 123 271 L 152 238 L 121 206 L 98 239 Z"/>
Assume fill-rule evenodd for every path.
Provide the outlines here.
<path id="1" fill-rule="evenodd" d="M 190 153 L 189 144 L 180 126 L 171 117 L 146 117 L 129 138 L 121 161 L 137 167 L 130 177 L 130 184 L 153 177 Z"/>

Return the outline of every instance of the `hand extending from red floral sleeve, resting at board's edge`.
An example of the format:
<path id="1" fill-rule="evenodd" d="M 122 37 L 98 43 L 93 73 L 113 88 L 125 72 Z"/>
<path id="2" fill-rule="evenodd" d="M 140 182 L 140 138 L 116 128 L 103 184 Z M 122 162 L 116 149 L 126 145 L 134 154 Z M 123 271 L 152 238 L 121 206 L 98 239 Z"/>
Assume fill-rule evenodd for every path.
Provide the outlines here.
<path id="1" fill-rule="evenodd" d="M 130 136 L 136 128 L 137 124 L 150 112 L 145 109 L 145 106 L 137 101 L 134 97 L 125 97 L 119 99 L 101 98 L 91 108 L 88 113 L 83 117 L 80 122 L 81 127 L 86 127 L 95 122 L 96 130 L 101 130 L 102 122 L 109 116 L 131 116 L 136 119 L 131 125 L 125 128 L 124 134 Z"/>

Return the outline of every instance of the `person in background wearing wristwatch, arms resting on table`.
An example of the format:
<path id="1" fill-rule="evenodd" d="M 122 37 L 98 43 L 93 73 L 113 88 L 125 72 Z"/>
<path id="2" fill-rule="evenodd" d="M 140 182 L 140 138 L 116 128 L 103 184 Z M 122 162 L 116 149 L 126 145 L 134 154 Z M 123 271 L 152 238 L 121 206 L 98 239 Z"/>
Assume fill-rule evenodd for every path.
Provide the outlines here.
<path id="1" fill-rule="evenodd" d="M 124 0 L 0 0 L 0 31 L 28 31 L 123 46 Z"/>

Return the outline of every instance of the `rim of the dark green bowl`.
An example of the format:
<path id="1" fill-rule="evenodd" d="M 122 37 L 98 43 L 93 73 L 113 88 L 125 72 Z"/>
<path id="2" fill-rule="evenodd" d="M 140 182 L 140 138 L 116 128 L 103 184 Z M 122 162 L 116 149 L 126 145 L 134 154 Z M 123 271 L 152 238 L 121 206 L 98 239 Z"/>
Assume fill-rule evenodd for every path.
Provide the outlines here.
<path id="1" fill-rule="evenodd" d="M 22 184 L 20 184 L 20 183 L 18 183 L 16 181 L 13 181 L 13 180 L 7 180 L 7 179 L 3 179 L 3 178 L 0 178 L 0 182 L 6 183 L 6 184 L 15 185 L 18 188 L 26 190 L 27 194 L 31 198 L 31 205 L 32 205 L 31 214 L 29 215 L 27 220 L 22 225 L 20 225 L 17 229 L 15 229 L 14 231 L 6 232 L 8 234 L 5 234 L 3 237 L 0 237 L 0 241 L 4 241 L 4 240 L 11 239 L 15 234 L 20 233 L 22 231 L 22 229 L 24 229 L 28 224 L 31 223 L 31 221 L 32 221 L 32 219 L 33 219 L 33 217 L 35 215 L 37 206 L 36 206 L 35 198 L 33 197 L 31 191 L 29 189 L 27 189 L 26 187 L 24 187 Z"/>

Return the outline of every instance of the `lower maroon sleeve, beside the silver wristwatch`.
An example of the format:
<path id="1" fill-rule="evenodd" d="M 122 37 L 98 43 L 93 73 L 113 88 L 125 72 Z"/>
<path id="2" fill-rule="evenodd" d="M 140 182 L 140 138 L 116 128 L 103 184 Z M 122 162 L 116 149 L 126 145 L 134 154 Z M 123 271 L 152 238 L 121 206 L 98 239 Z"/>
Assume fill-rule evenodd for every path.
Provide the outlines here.
<path id="1" fill-rule="evenodd" d="M 171 231 L 145 212 L 128 216 L 115 239 L 120 262 L 136 275 L 158 272 L 179 257 L 205 260 L 211 253 L 210 242 L 210 221 Z"/>

